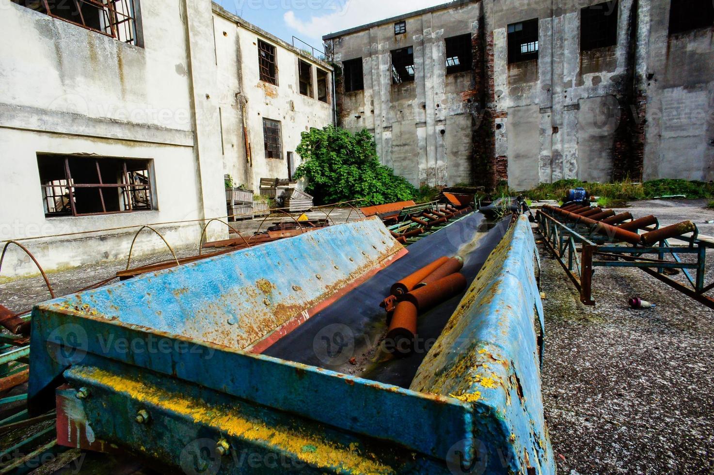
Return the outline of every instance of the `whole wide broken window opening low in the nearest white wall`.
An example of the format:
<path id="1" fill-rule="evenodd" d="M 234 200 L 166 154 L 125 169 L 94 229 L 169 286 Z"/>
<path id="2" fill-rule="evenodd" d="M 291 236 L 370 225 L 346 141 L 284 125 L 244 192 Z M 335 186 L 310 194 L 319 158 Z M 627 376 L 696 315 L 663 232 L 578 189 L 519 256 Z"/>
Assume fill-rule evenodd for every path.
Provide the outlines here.
<path id="1" fill-rule="evenodd" d="M 154 209 L 150 160 L 37 154 L 45 216 Z"/>

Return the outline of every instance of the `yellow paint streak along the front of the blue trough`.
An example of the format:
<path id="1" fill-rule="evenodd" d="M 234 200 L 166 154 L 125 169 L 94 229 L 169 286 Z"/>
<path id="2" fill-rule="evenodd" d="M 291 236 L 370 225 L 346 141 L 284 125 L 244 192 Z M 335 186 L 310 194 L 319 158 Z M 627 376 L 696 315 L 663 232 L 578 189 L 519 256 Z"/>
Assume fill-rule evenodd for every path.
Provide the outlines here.
<path id="1" fill-rule="evenodd" d="M 247 419 L 236 408 L 208 406 L 205 402 L 183 394 L 174 394 L 142 384 L 127 376 L 119 376 L 97 368 L 82 370 L 83 376 L 96 380 L 99 384 L 114 389 L 117 393 L 128 394 L 131 399 L 145 404 L 155 404 L 179 416 L 192 419 L 196 424 L 212 426 L 229 436 L 258 444 L 267 442 L 272 446 L 293 454 L 293 458 L 318 468 L 341 467 L 355 473 L 394 473 L 391 466 L 376 461 L 376 456 L 359 444 L 343 446 L 322 439 L 317 434 L 281 426 L 268 426 L 258 419 Z M 306 446 L 309 450 L 306 450 Z M 313 450 L 314 448 L 314 450 Z"/>

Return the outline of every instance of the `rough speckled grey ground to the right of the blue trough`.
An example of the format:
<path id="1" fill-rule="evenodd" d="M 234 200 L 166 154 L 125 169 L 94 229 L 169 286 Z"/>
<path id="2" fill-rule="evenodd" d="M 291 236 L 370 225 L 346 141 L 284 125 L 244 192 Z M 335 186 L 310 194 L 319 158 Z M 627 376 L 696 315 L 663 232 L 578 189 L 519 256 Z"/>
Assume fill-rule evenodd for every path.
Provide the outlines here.
<path id="1" fill-rule="evenodd" d="M 640 201 L 626 209 L 663 226 L 692 219 L 712 235 L 705 221 L 714 211 L 703 206 Z M 714 473 L 714 310 L 642 271 L 615 268 L 596 268 L 597 304 L 584 306 L 558 261 L 540 251 L 543 399 L 558 472 Z M 710 282 L 714 250 L 708 263 Z M 657 306 L 631 310 L 631 296 Z"/>

